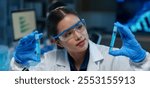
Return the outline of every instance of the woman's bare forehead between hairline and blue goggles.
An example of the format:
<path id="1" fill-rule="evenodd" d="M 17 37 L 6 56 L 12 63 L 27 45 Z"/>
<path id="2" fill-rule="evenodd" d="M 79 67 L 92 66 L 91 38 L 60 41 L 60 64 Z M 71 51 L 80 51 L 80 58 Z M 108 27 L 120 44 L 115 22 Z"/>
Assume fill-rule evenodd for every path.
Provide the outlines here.
<path id="1" fill-rule="evenodd" d="M 67 14 L 57 25 L 58 33 L 66 30 L 79 21 L 79 17 L 73 14 Z"/>

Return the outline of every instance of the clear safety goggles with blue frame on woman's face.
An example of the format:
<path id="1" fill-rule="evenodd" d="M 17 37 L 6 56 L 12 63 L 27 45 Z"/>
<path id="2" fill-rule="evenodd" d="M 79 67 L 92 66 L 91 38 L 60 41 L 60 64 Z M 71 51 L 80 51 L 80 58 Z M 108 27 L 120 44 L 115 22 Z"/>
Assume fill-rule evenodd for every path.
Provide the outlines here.
<path id="1" fill-rule="evenodd" d="M 60 39 L 61 41 L 67 41 L 74 37 L 75 31 L 82 33 L 85 30 L 84 27 L 85 27 L 85 20 L 81 19 L 76 24 L 59 33 L 57 36 L 53 36 L 53 38 Z"/>

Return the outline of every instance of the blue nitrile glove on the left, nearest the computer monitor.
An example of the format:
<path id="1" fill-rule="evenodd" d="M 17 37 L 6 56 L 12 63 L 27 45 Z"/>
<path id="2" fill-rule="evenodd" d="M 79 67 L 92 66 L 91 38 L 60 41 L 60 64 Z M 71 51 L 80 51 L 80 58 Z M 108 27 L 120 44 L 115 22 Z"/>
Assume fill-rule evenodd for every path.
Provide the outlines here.
<path id="1" fill-rule="evenodd" d="M 16 47 L 14 58 L 17 63 L 22 66 L 29 67 L 31 62 L 40 62 L 39 58 L 36 56 L 36 39 L 35 35 L 42 38 L 43 34 L 37 31 L 23 37 L 18 46 Z"/>

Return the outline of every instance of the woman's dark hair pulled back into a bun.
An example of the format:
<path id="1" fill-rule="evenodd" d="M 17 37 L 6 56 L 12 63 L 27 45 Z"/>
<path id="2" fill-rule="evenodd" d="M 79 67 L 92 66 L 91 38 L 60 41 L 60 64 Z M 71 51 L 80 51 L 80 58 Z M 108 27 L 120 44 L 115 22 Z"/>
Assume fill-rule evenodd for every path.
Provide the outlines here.
<path id="1" fill-rule="evenodd" d="M 77 16 L 76 11 L 68 8 L 63 2 L 55 2 L 49 7 L 47 16 L 48 37 L 57 35 L 57 25 L 67 14 Z"/>

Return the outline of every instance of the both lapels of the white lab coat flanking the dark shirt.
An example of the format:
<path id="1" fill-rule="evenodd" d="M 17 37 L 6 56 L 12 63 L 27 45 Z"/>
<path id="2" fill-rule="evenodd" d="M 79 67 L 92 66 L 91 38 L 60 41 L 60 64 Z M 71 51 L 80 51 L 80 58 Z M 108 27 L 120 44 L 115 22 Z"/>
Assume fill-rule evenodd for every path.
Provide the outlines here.
<path id="1" fill-rule="evenodd" d="M 98 49 L 97 45 L 89 40 L 89 49 L 90 49 L 90 57 L 89 57 L 89 64 L 87 70 L 98 70 L 100 61 L 104 59 L 100 50 Z M 68 54 L 65 49 L 62 52 L 57 52 L 57 61 L 56 64 L 58 66 L 62 66 L 66 68 L 66 70 L 70 70 L 70 65 L 68 61 Z"/>

